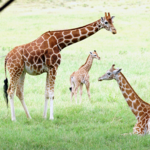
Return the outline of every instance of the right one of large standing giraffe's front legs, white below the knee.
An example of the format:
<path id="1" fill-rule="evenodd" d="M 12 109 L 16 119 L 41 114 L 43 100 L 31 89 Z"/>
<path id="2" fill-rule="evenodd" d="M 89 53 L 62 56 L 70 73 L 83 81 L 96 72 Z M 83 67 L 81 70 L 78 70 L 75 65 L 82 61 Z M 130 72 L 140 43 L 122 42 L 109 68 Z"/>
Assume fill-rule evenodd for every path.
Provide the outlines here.
<path id="1" fill-rule="evenodd" d="M 50 120 L 54 119 L 53 116 L 53 100 L 54 100 L 54 86 L 55 86 L 55 78 L 56 78 L 57 70 L 55 67 L 51 68 L 49 70 L 49 83 L 50 83 L 50 92 L 49 92 L 49 97 L 50 97 Z"/>

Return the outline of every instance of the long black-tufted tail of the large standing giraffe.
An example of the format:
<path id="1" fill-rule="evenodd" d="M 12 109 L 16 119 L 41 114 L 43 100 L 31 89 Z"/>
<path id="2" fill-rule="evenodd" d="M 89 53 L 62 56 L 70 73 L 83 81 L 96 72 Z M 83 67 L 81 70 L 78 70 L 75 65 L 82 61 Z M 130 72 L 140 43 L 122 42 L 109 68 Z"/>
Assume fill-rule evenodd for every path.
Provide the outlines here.
<path id="1" fill-rule="evenodd" d="M 8 108 L 8 79 L 7 79 L 7 75 L 6 75 L 6 64 L 7 64 L 7 60 L 5 59 L 5 80 L 4 80 L 4 86 L 3 86 L 3 91 L 4 91 L 4 99 L 6 101 L 6 105 Z"/>

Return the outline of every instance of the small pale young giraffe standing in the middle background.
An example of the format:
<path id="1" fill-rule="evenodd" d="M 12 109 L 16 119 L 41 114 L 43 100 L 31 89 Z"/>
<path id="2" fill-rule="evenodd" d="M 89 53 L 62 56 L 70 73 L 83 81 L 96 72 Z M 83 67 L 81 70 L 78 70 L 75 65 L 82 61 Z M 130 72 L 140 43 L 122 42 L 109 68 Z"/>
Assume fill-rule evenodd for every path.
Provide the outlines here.
<path id="1" fill-rule="evenodd" d="M 73 72 L 70 75 L 71 87 L 69 89 L 71 91 L 71 102 L 72 102 L 73 95 L 75 95 L 75 100 L 77 103 L 77 92 L 78 92 L 78 88 L 80 86 L 80 103 L 81 103 L 83 84 L 85 84 L 85 86 L 86 86 L 88 97 L 90 99 L 90 82 L 89 82 L 88 72 L 91 69 L 94 58 L 100 60 L 100 57 L 98 56 L 96 50 L 94 50 L 94 52 L 90 52 L 85 64 L 82 65 L 76 72 Z"/>

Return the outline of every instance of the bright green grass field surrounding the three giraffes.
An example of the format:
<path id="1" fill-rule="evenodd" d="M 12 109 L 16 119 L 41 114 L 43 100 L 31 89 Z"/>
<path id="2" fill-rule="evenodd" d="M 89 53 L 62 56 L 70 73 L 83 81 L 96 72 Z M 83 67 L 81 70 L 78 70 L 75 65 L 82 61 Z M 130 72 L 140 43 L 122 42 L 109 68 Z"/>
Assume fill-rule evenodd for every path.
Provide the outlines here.
<path id="1" fill-rule="evenodd" d="M 148 0 L 17 1 L 0 13 L 0 56 L 46 31 L 75 28 L 96 21 L 105 11 L 115 16 L 116 35 L 101 30 L 61 52 L 53 121 L 48 119 L 49 109 L 47 119 L 42 118 L 46 74 L 26 75 L 24 96 L 32 119 L 26 118 L 15 96 L 17 121 L 11 121 L 10 106 L 7 109 L 3 99 L 4 57 L 0 58 L 0 149 L 150 149 L 150 135 L 123 135 L 133 131 L 136 119 L 116 81 L 98 82 L 98 77 L 116 64 L 138 95 L 150 103 Z M 76 105 L 75 100 L 70 103 L 69 76 L 85 63 L 94 49 L 101 60 L 94 60 L 89 72 L 91 101 L 84 87 L 82 103 Z"/>

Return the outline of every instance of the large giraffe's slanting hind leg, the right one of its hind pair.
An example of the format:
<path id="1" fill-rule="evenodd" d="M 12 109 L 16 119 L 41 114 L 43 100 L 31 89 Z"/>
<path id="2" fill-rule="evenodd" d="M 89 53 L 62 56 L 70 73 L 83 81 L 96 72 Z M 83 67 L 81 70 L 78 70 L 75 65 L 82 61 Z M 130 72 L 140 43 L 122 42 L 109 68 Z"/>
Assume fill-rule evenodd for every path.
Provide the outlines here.
<path id="1" fill-rule="evenodd" d="M 26 72 L 23 72 L 21 74 L 19 80 L 18 80 L 17 89 L 16 89 L 16 96 L 19 98 L 19 100 L 20 100 L 20 102 L 24 108 L 24 111 L 26 113 L 27 118 L 31 119 L 28 108 L 27 108 L 25 101 L 24 101 L 24 79 L 25 79 L 25 75 L 26 75 Z"/>

